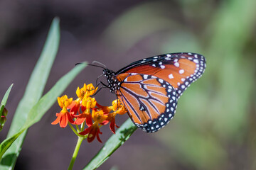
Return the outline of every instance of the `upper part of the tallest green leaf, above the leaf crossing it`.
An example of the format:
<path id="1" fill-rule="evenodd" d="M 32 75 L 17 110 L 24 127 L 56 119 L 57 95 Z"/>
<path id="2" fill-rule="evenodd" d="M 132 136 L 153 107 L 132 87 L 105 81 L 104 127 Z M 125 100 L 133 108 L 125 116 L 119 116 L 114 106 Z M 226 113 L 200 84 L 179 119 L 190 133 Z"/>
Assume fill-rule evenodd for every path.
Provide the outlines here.
<path id="1" fill-rule="evenodd" d="M 26 119 L 28 118 L 28 112 L 41 98 L 50 69 L 53 65 L 53 61 L 55 60 L 55 55 L 58 51 L 59 41 L 59 20 L 58 18 L 55 18 L 50 26 L 48 38 L 43 47 L 43 51 L 41 52 L 41 56 L 39 57 L 36 67 L 33 69 L 31 77 L 28 81 L 28 85 L 26 86 L 25 94 L 20 103 L 18 103 L 18 108 L 14 115 L 14 120 L 11 123 L 8 136 L 13 135 L 19 128 L 21 128 L 23 123 L 25 123 Z"/>

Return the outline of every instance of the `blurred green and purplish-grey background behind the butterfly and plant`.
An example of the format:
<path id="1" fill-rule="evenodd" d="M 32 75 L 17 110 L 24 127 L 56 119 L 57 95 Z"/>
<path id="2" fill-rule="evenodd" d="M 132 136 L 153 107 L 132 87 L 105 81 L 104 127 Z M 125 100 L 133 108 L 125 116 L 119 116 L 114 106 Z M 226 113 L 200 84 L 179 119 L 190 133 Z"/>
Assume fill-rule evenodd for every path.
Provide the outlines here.
<path id="1" fill-rule="evenodd" d="M 39 57 L 50 22 L 60 17 L 60 50 L 46 91 L 77 62 L 97 60 L 117 71 L 145 57 L 197 52 L 206 72 L 178 101 L 176 116 L 154 134 L 141 130 L 100 169 L 256 169 L 256 1 L 0 1 L 0 96 L 11 83 L 11 118 Z M 87 67 L 67 89 L 94 83 Z M 97 101 L 115 96 L 102 90 Z M 111 98 L 111 100 L 110 100 Z M 50 125 L 55 106 L 28 131 L 16 169 L 67 169 L 76 137 Z M 121 125 L 127 116 L 119 116 Z M 103 129 L 102 141 L 111 133 Z M 84 142 L 74 169 L 102 147 Z"/>

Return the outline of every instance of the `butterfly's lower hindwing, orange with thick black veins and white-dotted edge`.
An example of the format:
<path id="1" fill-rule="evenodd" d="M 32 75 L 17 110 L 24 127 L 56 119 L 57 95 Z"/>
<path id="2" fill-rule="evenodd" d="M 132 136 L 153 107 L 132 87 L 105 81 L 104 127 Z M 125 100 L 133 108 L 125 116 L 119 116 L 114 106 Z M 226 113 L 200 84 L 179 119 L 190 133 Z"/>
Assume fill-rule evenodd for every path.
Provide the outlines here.
<path id="1" fill-rule="evenodd" d="M 117 75 L 122 84 L 119 100 L 135 125 L 145 132 L 156 132 L 173 118 L 178 96 L 171 84 L 147 74 Z"/>

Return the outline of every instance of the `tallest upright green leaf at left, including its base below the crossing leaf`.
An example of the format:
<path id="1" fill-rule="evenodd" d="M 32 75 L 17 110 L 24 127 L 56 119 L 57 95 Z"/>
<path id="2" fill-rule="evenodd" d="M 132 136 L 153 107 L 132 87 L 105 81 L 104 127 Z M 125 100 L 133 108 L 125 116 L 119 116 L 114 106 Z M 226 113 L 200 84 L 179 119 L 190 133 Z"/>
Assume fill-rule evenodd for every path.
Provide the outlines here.
<path id="1" fill-rule="evenodd" d="M 33 69 L 31 77 L 28 81 L 28 85 L 26 86 L 25 94 L 21 99 L 20 103 L 18 103 L 14 119 L 11 123 L 11 128 L 7 135 L 8 139 L 10 139 L 10 137 L 14 137 L 14 134 L 17 134 L 17 132 L 21 132 L 20 129 L 28 119 L 29 111 L 41 98 L 43 94 L 43 89 L 48 79 L 48 75 L 50 73 L 50 69 L 55 59 L 55 55 L 58 51 L 59 41 L 59 19 L 55 18 L 50 27 L 48 38 L 46 40 L 46 44 L 43 47 L 43 51 L 41 52 L 41 56 L 38 59 L 36 67 Z M 6 149 L 8 149 L 8 151 L 4 155 L 5 159 L 1 160 L 1 164 L 8 165 L 11 169 L 14 168 L 14 164 L 16 162 L 19 152 L 21 151 L 21 146 L 23 144 L 25 136 L 26 132 L 20 135 L 9 149 L 9 144 L 6 145 L 6 143 L 2 143 L 3 145 L 1 145 L 0 148 L 0 156 L 3 156 L 4 152 L 6 152 Z M 3 147 L 4 145 L 6 147 Z M 1 166 L 0 169 L 2 169 Z"/>

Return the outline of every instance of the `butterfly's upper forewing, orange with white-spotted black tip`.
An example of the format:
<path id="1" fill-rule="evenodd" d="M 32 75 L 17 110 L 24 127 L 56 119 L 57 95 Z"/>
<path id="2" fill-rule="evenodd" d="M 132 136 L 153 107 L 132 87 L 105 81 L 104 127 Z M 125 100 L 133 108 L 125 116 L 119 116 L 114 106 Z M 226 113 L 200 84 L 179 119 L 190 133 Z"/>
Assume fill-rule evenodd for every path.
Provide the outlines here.
<path id="1" fill-rule="evenodd" d="M 127 73 L 148 74 L 164 79 L 174 86 L 178 97 L 193 81 L 202 76 L 206 68 L 205 57 L 195 53 L 160 55 L 148 60 L 151 60 L 149 64 L 143 64 L 144 60 L 141 60 L 141 65 L 132 67 Z"/>

